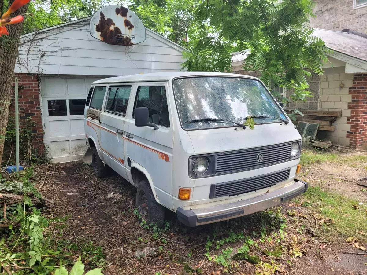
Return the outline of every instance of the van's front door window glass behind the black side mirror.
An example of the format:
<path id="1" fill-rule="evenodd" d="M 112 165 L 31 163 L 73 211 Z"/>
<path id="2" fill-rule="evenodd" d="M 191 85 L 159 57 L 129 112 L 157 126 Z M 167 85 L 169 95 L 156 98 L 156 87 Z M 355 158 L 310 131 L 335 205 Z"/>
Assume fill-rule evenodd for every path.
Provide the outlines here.
<path id="1" fill-rule="evenodd" d="M 139 86 L 134 105 L 134 108 L 148 108 L 150 122 L 153 122 L 157 125 L 170 127 L 166 87 Z M 132 113 L 132 117 L 134 117 L 134 111 Z"/>

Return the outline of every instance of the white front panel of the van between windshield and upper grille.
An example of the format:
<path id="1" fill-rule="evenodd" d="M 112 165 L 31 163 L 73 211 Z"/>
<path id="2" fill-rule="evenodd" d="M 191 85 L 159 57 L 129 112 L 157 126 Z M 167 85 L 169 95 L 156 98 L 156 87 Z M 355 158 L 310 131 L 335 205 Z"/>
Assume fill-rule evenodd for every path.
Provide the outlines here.
<path id="1" fill-rule="evenodd" d="M 266 146 L 300 140 L 292 122 L 188 131 L 196 155 Z"/>

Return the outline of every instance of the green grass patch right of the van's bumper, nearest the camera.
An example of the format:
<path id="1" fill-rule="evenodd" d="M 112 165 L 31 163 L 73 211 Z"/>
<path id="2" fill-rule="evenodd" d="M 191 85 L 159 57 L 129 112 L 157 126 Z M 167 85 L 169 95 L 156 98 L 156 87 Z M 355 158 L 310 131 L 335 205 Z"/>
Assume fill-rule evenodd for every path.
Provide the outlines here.
<path id="1" fill-rule="evenodd" d="M 359 205 L 358 200 L 347 198 L 336 192 L 325 192 L 320 187 L 309 187 L 308 190 L 298 198 L 305 200 L 311 210 L 315 211 L 323 219 L 333 219 L 335 224 L 323 224 L 322 229 L 325 237 L 330 241 L 336 238 L 348 238 L 356 236 L 360 240 L 367 241 L 366 236 L 358 234 L 358 231 L 367 233 L 367 207 Z M 353 208 L 356 205 L 358 209 Z M 319 226 L 320 228 L 320 226 Z"/>

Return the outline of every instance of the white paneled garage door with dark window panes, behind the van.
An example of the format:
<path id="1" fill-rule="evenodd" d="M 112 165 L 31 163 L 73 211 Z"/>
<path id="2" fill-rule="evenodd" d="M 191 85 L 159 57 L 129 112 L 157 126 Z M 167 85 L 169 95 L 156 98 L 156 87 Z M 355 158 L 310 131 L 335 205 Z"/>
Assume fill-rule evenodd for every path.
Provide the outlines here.
<path id="1" fill-rule="evenodd" d="M 53 162 L 83 158 L 84 106 L 91 83 L 101 78 L 41 77 L 44 143 Z"/>

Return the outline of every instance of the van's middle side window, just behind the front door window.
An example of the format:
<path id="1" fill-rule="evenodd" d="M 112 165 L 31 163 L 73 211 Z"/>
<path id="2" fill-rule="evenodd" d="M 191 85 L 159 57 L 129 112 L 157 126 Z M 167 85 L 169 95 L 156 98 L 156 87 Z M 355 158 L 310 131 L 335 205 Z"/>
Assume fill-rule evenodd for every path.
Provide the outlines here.
<path id="1" fill-rule="evenodd" d="M 106 103 L 106 111 L 126 114 L 131 87 L 110 87 Z"/>

